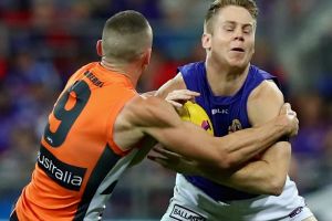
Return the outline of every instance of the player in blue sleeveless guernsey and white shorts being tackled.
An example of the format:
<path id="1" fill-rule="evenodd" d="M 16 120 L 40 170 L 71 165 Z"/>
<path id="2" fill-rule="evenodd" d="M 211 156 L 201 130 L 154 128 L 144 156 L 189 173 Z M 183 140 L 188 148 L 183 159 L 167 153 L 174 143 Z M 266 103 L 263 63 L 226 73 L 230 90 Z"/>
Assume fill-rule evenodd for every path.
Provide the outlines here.
<path id="1" fill-rule="evenodd" d="M 250 64 L 255 52 L 258 8 L 253 0 L 216 0 L 204 23 L 204 62 L 178 69 L 157 95 L 193 98 L 208 113 L 215 136 L 256 127 L 273 117 L 284 103 L 277 78 Z M 216 169 L 157 149 L 152 159 L 178 171 L 163 221 L 315 221 L 289 178 L 291 145 L 287 139 L 232 171 Z M 181 173 L 180 173 L 181 172 Z"/>

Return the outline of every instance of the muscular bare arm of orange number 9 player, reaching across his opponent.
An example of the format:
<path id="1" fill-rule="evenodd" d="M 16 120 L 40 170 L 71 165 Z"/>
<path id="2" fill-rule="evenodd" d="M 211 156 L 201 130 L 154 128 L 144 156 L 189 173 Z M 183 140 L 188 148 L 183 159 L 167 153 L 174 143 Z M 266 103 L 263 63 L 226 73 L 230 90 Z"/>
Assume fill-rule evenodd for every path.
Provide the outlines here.
<path id="1" fill-rule="evenodd" d="M 117 139 L 123 143 L 117 143 L 120 146 L 128 148 L 144 135 L 151 135 L 172 151 L 222 169 L 247 161 L 289 134 L 295 125 L 294 116 L 280 115 L 261 127 L 211 137 L 200 127 L 183 122 L 173 106 L 156 97 L 134 98 L 125 105 L 117 120 L 122 124 L 117 124 L 116 131 L 123 130 L 123 138 Z"/>

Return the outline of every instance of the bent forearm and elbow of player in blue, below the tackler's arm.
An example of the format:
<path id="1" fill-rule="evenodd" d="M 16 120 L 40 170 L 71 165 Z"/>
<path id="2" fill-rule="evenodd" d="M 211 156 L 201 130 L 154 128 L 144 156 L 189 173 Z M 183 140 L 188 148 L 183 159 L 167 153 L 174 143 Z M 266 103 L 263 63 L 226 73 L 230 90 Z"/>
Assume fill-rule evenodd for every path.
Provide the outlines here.
<path id="1" fill-rule="evenodd" d="M 238 170 L 216 170 L 196 164 L 196 169 L 191 171 L 238 190 L 259 194 L 280 194 L 289 170 L 290 156 L 290 144 L 281 141 L 263 152 L 261 158 L 246 164 Z"/>

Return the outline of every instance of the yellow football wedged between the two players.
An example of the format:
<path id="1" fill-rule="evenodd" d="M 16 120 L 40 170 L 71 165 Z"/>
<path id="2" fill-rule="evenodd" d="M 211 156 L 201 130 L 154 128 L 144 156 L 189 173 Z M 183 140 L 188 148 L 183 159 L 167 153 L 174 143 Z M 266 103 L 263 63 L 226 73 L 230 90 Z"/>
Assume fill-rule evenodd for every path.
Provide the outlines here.
<path id="1" fill-rule="evenodd" d="M 204 128 L 210 135 L 214 135 L 211 120 L 205 109 L 198 104 L 190 101 L 186 102 L 179 112 L 179 116 L 183 120 L 191 122 Z"/>

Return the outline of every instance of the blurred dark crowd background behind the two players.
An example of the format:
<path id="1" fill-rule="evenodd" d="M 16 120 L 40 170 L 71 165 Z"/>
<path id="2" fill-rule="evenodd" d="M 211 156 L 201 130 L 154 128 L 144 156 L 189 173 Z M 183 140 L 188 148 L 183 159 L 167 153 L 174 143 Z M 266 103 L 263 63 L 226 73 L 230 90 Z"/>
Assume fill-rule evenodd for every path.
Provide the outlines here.
<path id="1" fill-rule="evenodd" d="M 152 64 L 139 92 L 158 88 L 176 67 L 203 60 L 209 0 L 0 0 L 0 219 L 29 181 L 39 140 L 61 88 L 97 61 L 95 42 L 120 10 L 142 12 L 154 29 Z M 252 64 L 279 76 L 300 118 L 290 176 L 319 220 L 332 220 L 332 1 L 257 0 Z M 145 160 L 115 188 L 108 219 L 158 220 L 174 176 Z M 329 211 L 330 210 L 330 211 Z"/>

